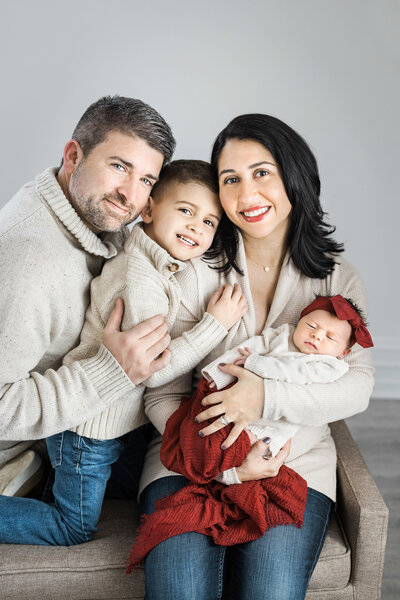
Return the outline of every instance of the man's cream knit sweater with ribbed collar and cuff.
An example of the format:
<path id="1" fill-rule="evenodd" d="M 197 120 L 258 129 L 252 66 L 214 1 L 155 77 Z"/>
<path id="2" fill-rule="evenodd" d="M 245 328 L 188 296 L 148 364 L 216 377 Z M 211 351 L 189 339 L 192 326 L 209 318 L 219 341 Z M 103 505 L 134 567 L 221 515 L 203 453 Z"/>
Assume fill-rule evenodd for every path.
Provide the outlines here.
<path id="1" fill-rule="evenodd" d="M 89 286 L 125 233 L 96 236 L 47 169 L 0 212 L 0 463 L 92 418 L 131 383 L 103 347 L 61 366 L 79 342 Z"/>

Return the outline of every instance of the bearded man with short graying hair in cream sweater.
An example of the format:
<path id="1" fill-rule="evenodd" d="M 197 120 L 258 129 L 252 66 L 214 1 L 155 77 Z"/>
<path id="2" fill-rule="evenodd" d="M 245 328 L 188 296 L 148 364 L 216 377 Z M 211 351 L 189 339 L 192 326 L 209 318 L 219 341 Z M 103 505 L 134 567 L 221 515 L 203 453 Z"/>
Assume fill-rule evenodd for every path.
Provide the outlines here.
<path id="1" fill-rule="evenodd" d="M 79 342 L 89 286 L 116 255 L 175 147 L 139 100 L 92 104 L 47 169 L 0 211 L 0 494 L 35 483 L 35 440 L 102 412 L 169 361 L 160 315 L 121 332 L 117 301 L 94 358 L 61 366 Z"/>

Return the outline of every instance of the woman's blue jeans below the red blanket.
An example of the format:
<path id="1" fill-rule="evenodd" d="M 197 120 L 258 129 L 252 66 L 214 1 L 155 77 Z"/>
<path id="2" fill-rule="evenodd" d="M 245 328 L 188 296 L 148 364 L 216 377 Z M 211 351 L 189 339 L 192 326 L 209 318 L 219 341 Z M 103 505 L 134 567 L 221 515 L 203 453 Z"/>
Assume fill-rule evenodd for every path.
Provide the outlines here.
<path id="1" fill-rule="evenodd" d="M 142 512 L 186 484 L 182 476 L 158 479 L 142 494 Z M 317 563 L 333 502 L 308 489 L 302 529 L 279 526 L 236 546 L 217 546 L 199 533 L 165 540 L 147 556 L 146 600 L 214 600 L 226 588 L 236 600 L 301 600 Z"/>

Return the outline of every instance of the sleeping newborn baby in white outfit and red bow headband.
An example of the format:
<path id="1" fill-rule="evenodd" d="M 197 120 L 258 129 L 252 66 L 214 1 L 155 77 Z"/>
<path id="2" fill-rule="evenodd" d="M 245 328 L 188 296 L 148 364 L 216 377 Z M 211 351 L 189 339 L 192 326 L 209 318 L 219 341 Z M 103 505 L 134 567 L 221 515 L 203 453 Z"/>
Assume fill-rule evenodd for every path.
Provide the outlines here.
<path id="1" fill-rule="evenodd" d="M 329 383 L 348 370 L 343 359 L 355 343 L 373 346 L 358 307 L 340 295 L 320 296 L 304 308 L 296 327 L 268 328 L 207 365 L 202 374 L 211 388 L 220 390 L 234 377 L 218 368 L 221 363 L 242 365 L 264 379 L 288 383 Z M 229 420 L 220 417 L 223 424 Z M 270 438 L 266 458 L 275 456 L 299 426 L 284 419 L 255 423 L 246 429 L 252 443 Z M 267 440 L 268 442 L 268 440 Z M 234 477 L 234 473 L 232 473 Z M 237 482 L 235 480 L 235 482 Z"/>

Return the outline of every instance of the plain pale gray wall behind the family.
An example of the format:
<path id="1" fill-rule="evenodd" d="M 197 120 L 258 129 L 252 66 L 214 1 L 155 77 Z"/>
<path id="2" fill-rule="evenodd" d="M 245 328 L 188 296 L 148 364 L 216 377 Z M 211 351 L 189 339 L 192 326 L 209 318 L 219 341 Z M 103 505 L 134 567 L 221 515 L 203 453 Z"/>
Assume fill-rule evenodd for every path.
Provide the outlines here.
<path id="1" fill-rule="evenodd" d="M 104 94 L 157 108 L 176 158 L 208 159 L 237 114 L 273 114 L 317 156 L 369 292 L 375 396 L 399 398 L 399 31 L 399 0 L 1 2 L 0 206 Z"/>

